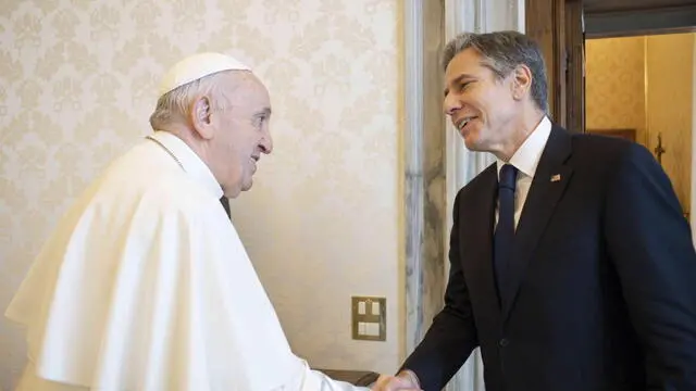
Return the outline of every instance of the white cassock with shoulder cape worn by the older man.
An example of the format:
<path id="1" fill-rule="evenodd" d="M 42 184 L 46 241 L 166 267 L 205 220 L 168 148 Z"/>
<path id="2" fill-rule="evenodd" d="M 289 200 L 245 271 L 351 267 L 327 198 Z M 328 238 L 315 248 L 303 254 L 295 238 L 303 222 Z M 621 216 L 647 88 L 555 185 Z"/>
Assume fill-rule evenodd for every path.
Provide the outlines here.
<path id="1" fill-rule="evenodd" d="M 17 390 L 366 390 L 293 354 L 212 173 L 152 137 L 82 194 L 10 304 Z"/>

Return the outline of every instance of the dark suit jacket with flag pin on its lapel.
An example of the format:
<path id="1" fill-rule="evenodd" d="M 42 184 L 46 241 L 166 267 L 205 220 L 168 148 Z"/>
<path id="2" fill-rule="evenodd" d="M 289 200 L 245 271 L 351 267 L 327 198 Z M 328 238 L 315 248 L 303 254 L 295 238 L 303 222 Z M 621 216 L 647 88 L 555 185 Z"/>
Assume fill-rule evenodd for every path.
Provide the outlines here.
<path id="1" fill-rule="evenodd" d="M 652 155 L 554 125 L 501 306 L 496 187 L 494 164 L 459 191 L 445 308 L 402 368 L 439 390 L 480 345 L 488 391 L 696 390 L 696 253 Z"/>

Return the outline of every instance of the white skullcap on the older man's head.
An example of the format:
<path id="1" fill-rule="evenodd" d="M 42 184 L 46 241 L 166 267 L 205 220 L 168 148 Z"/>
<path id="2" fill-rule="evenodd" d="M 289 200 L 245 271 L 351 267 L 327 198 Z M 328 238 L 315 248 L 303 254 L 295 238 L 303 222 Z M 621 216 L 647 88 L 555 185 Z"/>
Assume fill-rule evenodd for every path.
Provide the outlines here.
<path id="1" fill-rule="evenodd" d="M 174 64 L 160 83 L 160 97 L 201 77 L 222 71 L 251 71 L 236 59 L 221 53 L 198 53 Z"/>

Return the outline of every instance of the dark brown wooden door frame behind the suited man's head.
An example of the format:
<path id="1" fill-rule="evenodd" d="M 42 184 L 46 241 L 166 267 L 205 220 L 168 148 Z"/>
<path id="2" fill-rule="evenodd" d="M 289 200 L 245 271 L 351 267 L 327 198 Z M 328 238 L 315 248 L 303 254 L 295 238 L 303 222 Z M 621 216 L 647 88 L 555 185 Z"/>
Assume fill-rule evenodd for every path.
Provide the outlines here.
<path id="1" fill-rule="evenodd" d="M 542 47 L 549 116 L 571 133 L 585 131 L 585 39 L 696 31 L 696 5 L 585 12 L 583 0 L 525 0 L 525 31 Z M 669 4 L 667 0 L 666 4 Z"/>

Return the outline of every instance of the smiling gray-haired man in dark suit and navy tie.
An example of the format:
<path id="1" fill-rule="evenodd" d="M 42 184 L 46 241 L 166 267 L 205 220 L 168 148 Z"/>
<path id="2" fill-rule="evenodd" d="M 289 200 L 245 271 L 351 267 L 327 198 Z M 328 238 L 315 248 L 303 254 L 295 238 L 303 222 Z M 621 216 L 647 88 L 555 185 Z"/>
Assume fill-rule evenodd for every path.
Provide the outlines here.
<path id="1" fill-rule="evenodd" d="M 439 390 L 476 346 L 488 391 L 696 390 L 696 254 L 652 155 L 552 124 L 522 34 L 461 35 L 444 65 L 447 114 L 497 162 L 457 194 L 444 310 L 375 390 Z"/>

